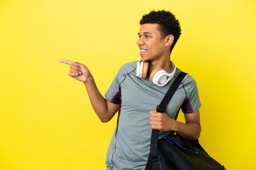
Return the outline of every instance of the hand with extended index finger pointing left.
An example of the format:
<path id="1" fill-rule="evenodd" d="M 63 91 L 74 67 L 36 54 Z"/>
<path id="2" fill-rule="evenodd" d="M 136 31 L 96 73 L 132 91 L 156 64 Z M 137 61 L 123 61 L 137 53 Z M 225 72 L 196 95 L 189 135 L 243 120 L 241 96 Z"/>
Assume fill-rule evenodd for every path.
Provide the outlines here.
<path id="1" fill-rule="evenodd" d="M 75 78 L 78 81 L 86 82 L 92 74 L 90 73 L 90 70 L 85 67 L 84 64 L 69 61 L 69 60 L 58 60 L 59 63 L 66 63 L 70 65 L 70 72 L 68 73 L 69 76 Z"/>

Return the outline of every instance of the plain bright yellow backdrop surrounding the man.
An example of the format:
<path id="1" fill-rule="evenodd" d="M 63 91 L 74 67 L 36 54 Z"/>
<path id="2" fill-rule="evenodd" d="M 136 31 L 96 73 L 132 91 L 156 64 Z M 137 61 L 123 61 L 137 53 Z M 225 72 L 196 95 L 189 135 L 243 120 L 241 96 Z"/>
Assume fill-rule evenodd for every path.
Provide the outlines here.
<path id="1" fill-rule="evenodd" d="M 101 123 L 57 60 L 87 65 L 104 95 L 140 58 L 139 20 L 153 9 L 180 20 L 171 59 L 197 81 L 201 145 L 228 170 L 256 169 L 255 0 L 1 0 L 0 170 L 106 169 L 117 116 Z"/>

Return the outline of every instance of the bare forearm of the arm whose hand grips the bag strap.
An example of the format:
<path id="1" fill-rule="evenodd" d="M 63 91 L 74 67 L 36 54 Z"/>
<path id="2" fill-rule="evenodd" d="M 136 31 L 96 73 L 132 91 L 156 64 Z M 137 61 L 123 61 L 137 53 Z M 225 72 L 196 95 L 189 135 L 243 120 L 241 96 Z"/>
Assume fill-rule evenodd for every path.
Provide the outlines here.
<path id="1" fill-rule="evenodd" d="M 176 121 L 175 128 L 173 129 L 175 133 L 184 137 L 185 139 L 198 139 L 201 133 L 201 126 L 197 123 L 182 123 Z"/>

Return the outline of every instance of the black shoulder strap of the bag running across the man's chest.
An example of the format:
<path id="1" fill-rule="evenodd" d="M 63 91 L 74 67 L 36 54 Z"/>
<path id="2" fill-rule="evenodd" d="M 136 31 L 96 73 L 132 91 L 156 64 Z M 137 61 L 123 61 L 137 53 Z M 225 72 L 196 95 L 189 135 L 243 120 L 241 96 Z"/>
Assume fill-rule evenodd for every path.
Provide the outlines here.
<path id="1" fill-rule="evenodd" d="M 176 92 L 178 87 L 180 86 L 180 83 L 184 79 L 187 73 L 185 72 L 180 72 L 180 74 L 175 78 L 175 81 L 171 85 L 171 87 L 168 89 L 167 93 L 165 94 L 162 102 L 157 105 L 157 112 L 164 113 L 165 108 L 168 105 L 169 101 L 173 97 L 173 94 Z M 158 136 L 159 136 L 159 131 L 153 129 L 151 133 L 151 140 L 150 140 L 150 153 L 148 157 L 152 161 L 152 165 L 155 170 L 161 169 L 161 163 L 160 163 L 160 158 L 157 153 L 157 141 L 158 141 Z M 148 164 L 148 163 L 147 163 Z"/>

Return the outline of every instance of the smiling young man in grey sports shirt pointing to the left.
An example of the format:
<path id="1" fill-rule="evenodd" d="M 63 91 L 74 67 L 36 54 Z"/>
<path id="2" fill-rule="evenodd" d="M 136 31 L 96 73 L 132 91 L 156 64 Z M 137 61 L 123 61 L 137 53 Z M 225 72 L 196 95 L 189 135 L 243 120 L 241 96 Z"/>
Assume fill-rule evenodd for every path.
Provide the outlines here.
<path id="1" fill-rule="evenodd" d="M 195 80 L 186 75 L 173 98 L 166 107 L 166 113 L 157 113 L 155 108 L 162 101 L 167 90 L 181 72 L 170 61 L 170 54 L 180 37 L 180 23 L 168 11 L 151 11 L 140 21 L 139 40 L 141 60 L 148 62 L 148 74 L 157 68 L 174 74 L 171 80 L 158 86 L 139 78 L 140 63 L 124 64 L 106 92 L 106 99 L 99 93 L 92 74 L 85 65 L 68 60 L 69 75 L 85 84 L 94 111 L 102 122 L 108 122 L 118 111 L 117 127 L 108 148 L 106 166 L 108 170 L 144 170 L 150 150 L 152 129 L 160 131 L 159 138 L 170 131 L 186 139 L 200 136 L 201 107 Z M 162 80 L 161 80 L 162 81 Z M 186 123 L 176 121 L 182 109 Z"/>

